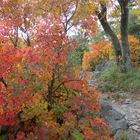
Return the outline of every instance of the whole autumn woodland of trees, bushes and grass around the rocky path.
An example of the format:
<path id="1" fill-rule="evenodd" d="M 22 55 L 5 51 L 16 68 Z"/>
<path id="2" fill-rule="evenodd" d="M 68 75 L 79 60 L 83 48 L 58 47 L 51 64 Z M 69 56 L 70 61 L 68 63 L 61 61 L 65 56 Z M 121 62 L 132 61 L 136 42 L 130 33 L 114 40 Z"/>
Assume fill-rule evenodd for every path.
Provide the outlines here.
<path id="1" fill-rule="evenodd" d="M 102 88 L 139 91 L 139 14 L 139 0 L 0 0 L 0 140 L 113 140 L 88 72 L 113 61 Z"/>

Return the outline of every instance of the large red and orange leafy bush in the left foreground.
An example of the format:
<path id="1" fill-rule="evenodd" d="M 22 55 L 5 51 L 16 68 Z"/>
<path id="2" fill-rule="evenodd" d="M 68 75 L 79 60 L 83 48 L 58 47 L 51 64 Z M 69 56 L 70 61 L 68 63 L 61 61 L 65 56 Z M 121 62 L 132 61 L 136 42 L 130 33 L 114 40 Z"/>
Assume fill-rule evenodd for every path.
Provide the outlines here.
<path id="1" fill-rule="evenodd" d="M 99 93 L 67 71 L 71 43 L 61 23 L 47 17 L 36 31 L 34 47 L 1 44 L 0 138 L 111 139 Z"/>

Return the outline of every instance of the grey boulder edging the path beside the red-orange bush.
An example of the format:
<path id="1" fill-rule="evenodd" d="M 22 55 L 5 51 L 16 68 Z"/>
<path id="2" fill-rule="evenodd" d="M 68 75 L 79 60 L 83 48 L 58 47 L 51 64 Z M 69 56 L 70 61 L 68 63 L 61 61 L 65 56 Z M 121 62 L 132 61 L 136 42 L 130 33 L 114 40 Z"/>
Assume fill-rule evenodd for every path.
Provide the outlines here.
<path id="1" fill-rule="evenodd" d="M 127 114 L 122 112 L 121 108 L 107 98 L 101 98 L 100 103 L 100 116 L 110 126 L 111 135 L 115 137 L 115 140 L 140 140 L 137 133 L 130 127 Z"/>

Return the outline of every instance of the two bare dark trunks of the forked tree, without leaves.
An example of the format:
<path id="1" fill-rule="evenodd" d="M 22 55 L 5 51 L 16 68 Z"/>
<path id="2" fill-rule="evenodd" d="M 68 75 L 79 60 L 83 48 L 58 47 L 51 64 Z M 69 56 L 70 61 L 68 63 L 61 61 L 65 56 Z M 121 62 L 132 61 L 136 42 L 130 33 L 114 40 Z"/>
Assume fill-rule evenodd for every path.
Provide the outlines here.
<path id="1" fill-rule="evenodd" d="M 114 50 L 116 52 L 117 58 L 122 58 L 122 66 L 124 71 L 129 71 L 131 69 L 131 59 L 129 52 L 128 43 L 128 15 L 129 15 L 129 0 L 117 0 L 120 6 L 120 35 L 121 42 L 119 42 L 118 37 L 115 32 L 111 29 L 107 21 L 107 7 L 106 3 L 101 3 L 101 10 L 97 11 L 98 19 L 105 30 L 105 32 L 111 37 Z"/>

